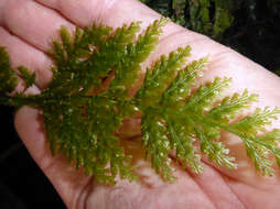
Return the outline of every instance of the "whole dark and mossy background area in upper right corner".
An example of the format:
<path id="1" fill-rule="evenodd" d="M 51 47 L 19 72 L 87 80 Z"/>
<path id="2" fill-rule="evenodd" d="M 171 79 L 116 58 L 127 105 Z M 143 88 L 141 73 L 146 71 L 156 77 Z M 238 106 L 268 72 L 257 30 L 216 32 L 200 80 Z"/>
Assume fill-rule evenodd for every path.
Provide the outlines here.
<path id="1" fill-rule="evenodd" d="M 182 26 L 280 73 L 280 0 L 141 1 Z"/>

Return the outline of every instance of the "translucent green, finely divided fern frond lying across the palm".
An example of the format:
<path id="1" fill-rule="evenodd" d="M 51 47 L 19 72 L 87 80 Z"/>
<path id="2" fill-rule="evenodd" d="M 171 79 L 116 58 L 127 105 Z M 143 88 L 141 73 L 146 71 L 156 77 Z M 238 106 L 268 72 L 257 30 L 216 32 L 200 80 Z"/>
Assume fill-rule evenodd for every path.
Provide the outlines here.
<path id="1" fill-rule="evenodd" d="M 83 31 L 77 28 L 74 35 L 62 28 L 62 41 L 54 41 L 49 53 L 55 64 L 53 80 L 41 95 L 34 96 L 7 94 L 14 90 L 18 78 L 1 47 L 0 103 L 43 110 L 52 153 L 63 153 L 100 183 L 114 184 L 117 175 L 129 180 L 136 178 L 131 157 L 125 154 L 116 132 L 125 118 L 137 113 L 141 113 L 147 161 L 151 161 L 164 180 L 174 179 L 169 156 L 172 151 L 182 166 L 190 166 L 194 173 L 203 170 L 201 154 L 217 165 L 235 168 L 235 158 L 220 141 L 222 131 L 237 135 L 256 168 L 272 175 L 269 154 L 274 155 L 280 166 L 280 130 L 268 132 L 265 128 L 280 110 L 256 109 L 240 117 L 250 102 L 257 101 L 257 96 L 245 90 L 222 98 L 230 78 L 215 78 L 194 90 L 207 61 L 187 63 L 190 46 L 161 56 L 131 95 L 129 89 L 139 81 L 141 63 L 153 52 L 165 23 L 166 19 L 157 20 L 138 36 L 139 22 L 116 31 L 93 24 Z M 35 74 L 23 66 L 18 69 L 26 90 L 34 85 Z M 109 84 L 104 85 L 105 80 Z"/>

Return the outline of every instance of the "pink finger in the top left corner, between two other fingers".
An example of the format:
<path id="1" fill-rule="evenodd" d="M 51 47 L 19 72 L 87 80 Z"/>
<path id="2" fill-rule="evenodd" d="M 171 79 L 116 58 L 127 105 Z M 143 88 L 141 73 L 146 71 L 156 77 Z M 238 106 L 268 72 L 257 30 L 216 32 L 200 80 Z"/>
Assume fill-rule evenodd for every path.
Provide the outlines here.
<path id="1" fill-rule="evenodd" d="M 33 0 L 0 1 L 0 24 L 30 45 L 46 52 L 62 25 L 74 25 Z"/>

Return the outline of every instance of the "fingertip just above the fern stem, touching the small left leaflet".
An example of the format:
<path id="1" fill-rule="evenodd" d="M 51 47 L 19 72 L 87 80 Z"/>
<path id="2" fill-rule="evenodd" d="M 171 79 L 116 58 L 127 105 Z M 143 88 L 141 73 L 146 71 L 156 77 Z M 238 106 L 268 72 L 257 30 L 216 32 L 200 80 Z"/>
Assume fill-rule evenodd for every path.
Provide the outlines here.
<path id="1" fill-rule="evenodd" d="M 23 65 L 31 72 L 35 72 L 35 84 L 39 88 L 47 86 L 52 78 L 50 70 L 52 62 L 44 53 L 10 34 L 2 26 L 0 26 L 0 46 L 4 46 L 8 51 L 13 69 L 17 70 L 19 66 Z"/>

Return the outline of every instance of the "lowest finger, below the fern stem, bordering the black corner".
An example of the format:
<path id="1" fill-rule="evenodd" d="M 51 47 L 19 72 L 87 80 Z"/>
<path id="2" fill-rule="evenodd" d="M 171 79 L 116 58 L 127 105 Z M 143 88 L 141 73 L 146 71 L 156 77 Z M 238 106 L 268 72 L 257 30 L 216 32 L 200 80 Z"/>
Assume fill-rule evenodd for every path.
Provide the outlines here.
<path id="1" fill-rule="evenodd" d="M 28 121 L 28 122 L 26 122 Z M 17 131 L 31 156 L 52 182 L 68 208 L 82 208 L 87 185 L 91 178 L 77 172 L 62 155 L 53 157 L 43 131 L 43 120 L 39 110 L 23 107 L 15 114 Z"/>

